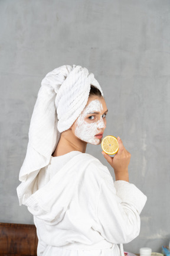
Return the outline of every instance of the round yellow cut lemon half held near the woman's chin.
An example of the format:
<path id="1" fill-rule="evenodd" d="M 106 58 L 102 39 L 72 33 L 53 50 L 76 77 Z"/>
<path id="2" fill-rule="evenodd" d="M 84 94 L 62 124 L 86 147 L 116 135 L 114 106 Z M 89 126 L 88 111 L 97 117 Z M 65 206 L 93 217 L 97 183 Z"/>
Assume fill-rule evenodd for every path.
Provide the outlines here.
<path id="1" fill-rule="evenodd" d="M 102 149 L 105 153 L 109 155 L 114 155 L 119 150 L 119 143 L 114 136 L 106 136 L 102 140 Z"/>

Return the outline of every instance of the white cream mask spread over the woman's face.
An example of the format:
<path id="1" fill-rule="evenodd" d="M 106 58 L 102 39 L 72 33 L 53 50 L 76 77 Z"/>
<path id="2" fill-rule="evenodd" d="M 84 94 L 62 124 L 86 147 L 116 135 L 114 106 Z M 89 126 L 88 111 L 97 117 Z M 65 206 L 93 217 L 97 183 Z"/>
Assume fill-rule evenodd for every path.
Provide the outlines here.
<path id="1" fill-rule="evenodd" d="M 84 108 L 83 112 L 76 121 L 75 134 L 77 137 L 79 137 L 79 139 L 93 145 L 100 144 L 100 139 L 95 137 L 95 135 L 99 134 L 99 132 L 106 127 L 103 122 L 103 117 L 101 116 L 100 120 L 98 121 L 93 121 L 93 119 L 86 121 L 86 119 L 89 114 L 91 114 L 91 117 L 93 117 L 94 112 L 101 113 L 102 111 L 103 106 L 99 100 L 91 101 L 89 105 Z"/>

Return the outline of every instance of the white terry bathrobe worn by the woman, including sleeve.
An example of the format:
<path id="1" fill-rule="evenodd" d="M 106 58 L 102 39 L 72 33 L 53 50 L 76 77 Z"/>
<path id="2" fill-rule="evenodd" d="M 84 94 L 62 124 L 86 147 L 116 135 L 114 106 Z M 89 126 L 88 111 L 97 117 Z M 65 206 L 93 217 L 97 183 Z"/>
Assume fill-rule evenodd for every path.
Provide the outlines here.
<path id="1" fill-rule="evenodd" d="M 38 256 L 119 256 L 117 244 L 139 235 L 146 196 L 113 182 L 98 159 L 73 151 L 51 156 L 27 200 L 38 235 Z"/>

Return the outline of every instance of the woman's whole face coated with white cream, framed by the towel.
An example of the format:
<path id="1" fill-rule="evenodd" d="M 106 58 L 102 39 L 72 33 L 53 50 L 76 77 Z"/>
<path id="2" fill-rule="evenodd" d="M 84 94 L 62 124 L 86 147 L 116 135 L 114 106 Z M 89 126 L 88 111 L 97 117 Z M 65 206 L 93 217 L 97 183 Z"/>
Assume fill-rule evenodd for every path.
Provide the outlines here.
<path id="1" fill-rule="evenodd" d="M 74 135 L 84 142 L 99 145 L 106 128 L 106 113 L 104 98 L 91 95 L 86 107 L 73 124 Z"/>

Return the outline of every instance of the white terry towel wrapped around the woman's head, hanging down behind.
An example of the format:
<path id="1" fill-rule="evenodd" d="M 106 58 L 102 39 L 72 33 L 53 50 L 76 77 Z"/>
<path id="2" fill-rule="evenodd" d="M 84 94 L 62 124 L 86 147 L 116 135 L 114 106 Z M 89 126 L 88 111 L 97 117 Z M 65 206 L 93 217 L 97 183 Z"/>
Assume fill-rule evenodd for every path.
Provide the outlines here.
<path id="1" fill-rule="evenodd" d="M 60 133 L 71 127 L 86 106 L 90 85 L 103 95 L 93 73 L 76 65 L 56 68 L 42 79 L 31 117 L 27 153 L 19 172 L 19 204 L 25 204 L 30 197 L 31 185 L 40 169 L 48 165 Z"/>

